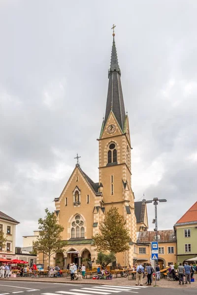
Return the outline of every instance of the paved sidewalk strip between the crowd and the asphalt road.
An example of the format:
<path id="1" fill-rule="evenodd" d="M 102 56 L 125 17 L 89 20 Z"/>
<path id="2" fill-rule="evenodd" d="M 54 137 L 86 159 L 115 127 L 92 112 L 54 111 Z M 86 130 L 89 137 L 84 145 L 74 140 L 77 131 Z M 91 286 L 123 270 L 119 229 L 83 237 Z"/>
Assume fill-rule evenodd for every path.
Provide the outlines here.
<path id="1" fill-rule="evenodd" d="M 190 288 L 197 288 L 197 274 L 194 275 L 195 282 L 191 284 L 184 284 L 179 285 L 179 282 L 177 281 L 168 281 L 165 279 L 162 279 L 160 281 L 157 281 L 157 286 L 162 288 L 180 288 L 180 289 L 190 289 Z M 93 280 L 93 279 L 83 279 L 83 280 L 74 280 L 70 281 L 70 278 L 38 278 L 38 279 L 32 279 L 27 277 L 22 278 L 9 278 L 9 279 L 0 279 L 0 281 L 26 281 L 26 282 L 45 282 L 45 283 L 69 283 L 69 284 L 102 284 L 102 285 L 116 285 L 116 286 L 135 286 L 136 281 L 135 280 L 128 280 L 128 278 L 116 278 L 112 280 Z M 153 287 L 155 285 L 155 281 L 152 283 Z M 146 279 L 143 280 L 143 286 L 146 286 Z"/>

